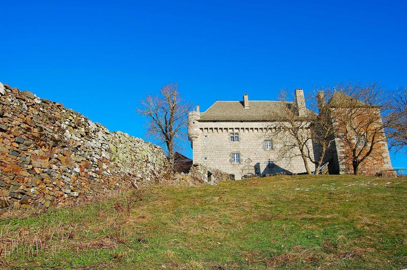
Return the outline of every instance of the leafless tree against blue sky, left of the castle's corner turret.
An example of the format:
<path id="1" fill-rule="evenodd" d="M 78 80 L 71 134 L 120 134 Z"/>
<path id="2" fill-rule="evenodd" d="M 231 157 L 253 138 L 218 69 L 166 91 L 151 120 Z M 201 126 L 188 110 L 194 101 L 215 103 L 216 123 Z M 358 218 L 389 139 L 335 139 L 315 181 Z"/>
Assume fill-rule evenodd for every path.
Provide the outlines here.
<path id="1" fill-rule="evenodd" d="M 175 169 L 176 139 L 183 138 L 191 105 L 181 98 L 177 83 L 165 85 L 161 96 L 147 96 L 138 112 L 149 119 L 148 133 L 163 142 L 168 151 L 172 171 Z"/>

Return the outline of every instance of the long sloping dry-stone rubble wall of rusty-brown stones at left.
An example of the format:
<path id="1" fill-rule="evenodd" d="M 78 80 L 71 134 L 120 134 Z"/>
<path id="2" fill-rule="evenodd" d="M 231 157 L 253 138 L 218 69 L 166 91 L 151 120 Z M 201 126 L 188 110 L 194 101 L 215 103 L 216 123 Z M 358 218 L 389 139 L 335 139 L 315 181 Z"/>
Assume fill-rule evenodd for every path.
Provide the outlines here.
<path id="1" fill-rule="evenodd" d="M 162 149 L 0 83 L 0 209 L 66 205 L 170 177 Z"/>

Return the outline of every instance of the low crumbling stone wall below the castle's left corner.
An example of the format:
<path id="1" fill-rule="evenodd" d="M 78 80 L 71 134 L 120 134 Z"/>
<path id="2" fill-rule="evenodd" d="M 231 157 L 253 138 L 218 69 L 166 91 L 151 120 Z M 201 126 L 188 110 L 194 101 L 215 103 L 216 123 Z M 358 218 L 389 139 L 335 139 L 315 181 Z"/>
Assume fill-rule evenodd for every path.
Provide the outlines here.
<path id="1" fill-rule="evenodd" d="M 235 180 L 234 175 L 227 174 L 216 168 L 208 167 L 204 164 L 193 164 L 191 170 L 189 171 L 189 175 L 200 183 L 211 185 L 216 185 L 220 181 Z"/>

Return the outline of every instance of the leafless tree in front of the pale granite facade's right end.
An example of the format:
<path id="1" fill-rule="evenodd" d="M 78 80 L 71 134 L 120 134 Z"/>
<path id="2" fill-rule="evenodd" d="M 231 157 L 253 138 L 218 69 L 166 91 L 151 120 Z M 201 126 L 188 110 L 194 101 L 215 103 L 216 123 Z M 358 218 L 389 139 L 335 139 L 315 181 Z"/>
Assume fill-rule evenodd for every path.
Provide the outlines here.
<path id="1" fill-rule="evenodd" d="M 279 156 L 289 160 L 301 156 L 307 174 L 311 174 L 308 162 L 312 152 L 310 124 L 316 115 L 306 110 L 305 99 L 304 102 L 287 102 L 286 91 L 280 92 L 279 101 L 280 108 L 271 112 L 276 125 L 273 132 L 280 144 Z"/>

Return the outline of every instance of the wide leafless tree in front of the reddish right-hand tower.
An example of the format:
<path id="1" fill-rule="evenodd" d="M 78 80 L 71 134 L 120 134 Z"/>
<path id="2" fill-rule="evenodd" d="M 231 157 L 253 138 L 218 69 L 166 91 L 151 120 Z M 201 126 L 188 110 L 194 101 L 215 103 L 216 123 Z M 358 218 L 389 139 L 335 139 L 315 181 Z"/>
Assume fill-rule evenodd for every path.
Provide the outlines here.
<path id="1" fill-rule="evenodd" d="M 337 85 L 329 102 L 331 113 L 337 117 L 334 125 L 337 138 L 343 143 L 345 158 L 358 174 L 359 165 L 386 142 L 385 129 L 394 120 L 388 114 L 389 99 L 376 82 L 361 85 Z M 385 116 L 382 119 L 382 115 Z"/>

